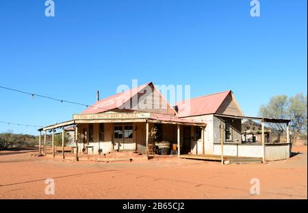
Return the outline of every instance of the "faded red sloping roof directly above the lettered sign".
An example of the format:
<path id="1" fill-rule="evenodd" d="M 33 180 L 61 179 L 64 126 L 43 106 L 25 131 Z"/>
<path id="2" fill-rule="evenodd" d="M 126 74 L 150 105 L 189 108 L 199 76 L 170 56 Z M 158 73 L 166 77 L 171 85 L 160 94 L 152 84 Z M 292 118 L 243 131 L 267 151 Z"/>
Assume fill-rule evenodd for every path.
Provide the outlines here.
<path id="1" fill-rule="evenodd" d="M 125 102 L 127 102 L 131 97 L 138 93 L 143 93 L 142 89 L 148 86 L 151 83 L 143 84 L 136 88 L 126 90 L 125 92 L 120 92 L 116 95 L 112 95 L 100 101 L 97 101 L 92 106 L 81 112 L 81 114 L 97 114 L 101 112 L 107 112 L 116 108 L 120 108 Z"/>

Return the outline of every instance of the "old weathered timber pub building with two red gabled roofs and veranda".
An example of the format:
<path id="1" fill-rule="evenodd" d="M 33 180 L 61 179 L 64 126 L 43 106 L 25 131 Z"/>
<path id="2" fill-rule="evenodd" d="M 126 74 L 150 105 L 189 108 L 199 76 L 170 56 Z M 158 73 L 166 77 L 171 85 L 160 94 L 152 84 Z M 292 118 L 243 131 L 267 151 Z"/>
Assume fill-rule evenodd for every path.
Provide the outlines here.
<path id="1" fill-rule="evenodd" d="M 261 122 L 261 141 L 243 140 L 242 119 Z M 270 141 L 264 131 L 266 122 L 286 123 L 286 141 Z M 185 158 L 228 155 L 282 160 L 290 158 L 289 123 L 244 116 L 231 90 L 181 101 L 172 107 L 150 82 L 98 100 L 81 114 L 74 114 L 71 121 L 38 129 L 39 154 L 47 154 L 47 131 L 53 136 L 55 129 L 62 129 L 64 158 L 64 131 L 70 127 L 75 129 L 71 147 L 76 160 L 81 153 L 102 155 L 112 151 L 134 151 L 149 157 L 157 153 L 156 145 L 170 147 L 168 154 Z M 53 140 L 52 145 L 55 156 Z"/>

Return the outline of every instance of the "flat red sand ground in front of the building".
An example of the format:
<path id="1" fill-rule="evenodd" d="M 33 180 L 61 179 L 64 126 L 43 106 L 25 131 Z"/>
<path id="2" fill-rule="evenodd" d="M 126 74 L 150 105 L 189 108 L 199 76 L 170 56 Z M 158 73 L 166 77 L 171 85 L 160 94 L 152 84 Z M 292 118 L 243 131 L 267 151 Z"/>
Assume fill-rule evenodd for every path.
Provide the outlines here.
<path id="1" fill-rule="evenodd" d="M 177 158 L 62 162 L 37 151 L 0 151 L 1 199 L 307 199 L 307 147 L 289 160 L 229 164 Z M 251 195 L 257 177 L 261 195 Z M 44 180 L 55 180 L 45 195 Z"/>

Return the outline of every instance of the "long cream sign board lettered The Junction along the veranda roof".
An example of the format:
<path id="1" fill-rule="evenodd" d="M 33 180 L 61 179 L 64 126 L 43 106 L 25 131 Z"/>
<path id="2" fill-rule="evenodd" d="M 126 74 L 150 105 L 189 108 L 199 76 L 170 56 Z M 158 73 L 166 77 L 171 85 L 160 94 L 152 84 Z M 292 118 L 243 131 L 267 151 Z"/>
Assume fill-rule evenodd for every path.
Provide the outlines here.
<path id="1" fill-rule="evenodd" d="M 131 112 L 131 113 L 101 113 L 101 114 L 74 114 L 73 120 L 112 120 L 112 119 L 132 119 L 149 118 L 149 112 Z"/>

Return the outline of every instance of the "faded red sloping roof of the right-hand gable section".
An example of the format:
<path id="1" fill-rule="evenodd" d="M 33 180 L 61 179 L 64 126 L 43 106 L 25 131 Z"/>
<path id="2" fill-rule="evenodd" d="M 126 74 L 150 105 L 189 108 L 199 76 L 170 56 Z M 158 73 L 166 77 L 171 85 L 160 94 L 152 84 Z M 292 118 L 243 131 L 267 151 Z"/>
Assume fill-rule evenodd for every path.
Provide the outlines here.
<path id="1" fill-rule="evenodd" d="M 202 114 L 215 114 L 222 101 L 229 95 L 231 90 L 218 92 L 211 95 L 196 97 L 180 101 L 178 105 L 178 117 L 197 116 Z"/>

